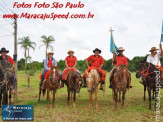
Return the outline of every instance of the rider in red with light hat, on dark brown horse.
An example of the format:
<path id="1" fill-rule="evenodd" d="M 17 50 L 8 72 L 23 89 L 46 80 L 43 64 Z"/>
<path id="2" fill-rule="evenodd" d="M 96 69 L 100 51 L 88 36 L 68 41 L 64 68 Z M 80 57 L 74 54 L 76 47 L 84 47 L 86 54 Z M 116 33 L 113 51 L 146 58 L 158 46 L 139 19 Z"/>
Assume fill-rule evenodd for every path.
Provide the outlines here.
<path id="1" fill-rule="evenodd" d="M 76 68 L 77 58 L 76 58 L 76 56 L 74 56 L 74 51 L 73 50 L 69 50 L 67 53 L 68 53 L 68 56 L 65 59 L 66 68 L 63 70 L 62 75 L 61 75 L 61 77 L 62 77 L 61 88 L 64 87 L 64 81 L 66 80 L 67 72 L 70 69 L 72 69 L 74 71 L 77 71 L 80 74 L 80 71 Z"/>

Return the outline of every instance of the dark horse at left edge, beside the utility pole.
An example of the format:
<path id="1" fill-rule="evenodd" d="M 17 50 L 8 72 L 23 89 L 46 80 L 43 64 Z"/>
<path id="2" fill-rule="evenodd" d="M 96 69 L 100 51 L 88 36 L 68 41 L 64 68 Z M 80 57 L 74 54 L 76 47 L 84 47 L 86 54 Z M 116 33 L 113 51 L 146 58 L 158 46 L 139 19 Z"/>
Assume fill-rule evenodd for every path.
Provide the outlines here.
<path id="1" fill-rule="evenodd" d="M 11 91 L 12 86 L 15 81 L 15 77 L 13 72 L 10 71 L 9 63 L 7 60 L 0 61 L 0 108 L 1 105 L 8 105 L 8 97 L 9 97 L 9 105 L 11 105 Z M 8 96 L 9 90 L 9 96 Z M 2 99 L 3 95 L 3 99 Z"/>

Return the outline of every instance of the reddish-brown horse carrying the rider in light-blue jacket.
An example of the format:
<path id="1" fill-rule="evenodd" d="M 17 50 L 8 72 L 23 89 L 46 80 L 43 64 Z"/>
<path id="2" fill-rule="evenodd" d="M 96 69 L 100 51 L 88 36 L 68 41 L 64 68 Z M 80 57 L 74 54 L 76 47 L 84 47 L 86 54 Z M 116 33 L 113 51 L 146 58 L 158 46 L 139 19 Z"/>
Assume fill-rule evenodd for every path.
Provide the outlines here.
<path id="1" fill-rule="evenodd" d="M 42 90 L 43 95 L 45 95 L 46 90 L 47 90 L 47 109 L 49 109 L 49 104 L 50 104 L 50 91 L 53 91 L 53 102 L 52 102 L 52 107 L 55 108 L 54 102 L 55 102 L 55 94 L 58 89 L 58 72 L 57 72 L 57 67 L 56 66 L 51 66 L 50 71 L 49 71 L 49 77 L 45 83 L 45 89 Z M 38 101 L 40 102 L 40 96 L 41 96 L 41 83 L 40 83 L 40 88 L 39 88 L 39 99 Z"/>

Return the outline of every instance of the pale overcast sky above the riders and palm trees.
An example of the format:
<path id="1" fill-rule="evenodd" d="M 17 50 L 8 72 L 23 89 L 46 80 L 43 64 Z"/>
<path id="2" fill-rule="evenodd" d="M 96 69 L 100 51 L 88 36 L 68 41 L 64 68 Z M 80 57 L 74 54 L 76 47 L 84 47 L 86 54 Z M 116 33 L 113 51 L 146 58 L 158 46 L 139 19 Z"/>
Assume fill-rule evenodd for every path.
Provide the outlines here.
<path id="1" fill-rule="evenodd" d="M 80 0 L 84 8 L 13 8 L 13 3 L 35 2 L 71 2 L 77 4 L 78 0 L 0 0 L 0 15 L 13 12 L 28 13 L 85 13 L 94 14 L 93 19 L 18 19 L 18 39 L 29 36 L 37 46 L 30 56 L 33 61 L 42 61 L 45 58 L 45 47 L 39 48 L 41 36 L 52 35 L 55 38 L 54 58 L 65 59 L 68 50 L 74 50 L 78 60 L 83 60 L 93 54 L 93 49 L 102 50 L 104 59 L 112 58 L 110 52 L 110 32 L 112 27 L 113 36 L 118 47 L 124 47 L 124 55 L 129 59 L 134 56 L 149 54 L 151 47 L 159 48 L 161 28 L 163 20 L 162 0 Z M 5 4 L 4 4 L 5 3 Z M 7 5 L 7 6 L 6 6 Z M 4 8 L 5 7 L 5 8 Z M 6 10 L 7 9 L 7 10 Z M 3 10 L 3 11 L 2 11 Z M 10 12 L 11 13 L 11 12 Z M 0 16 L 0 48 L 10 50 L 9 55 L 14 53 L 13 20 L 4 20 Z M 5 29 L 4 29 L 5 28 Z M 4 36 L 3 35 L 10 35 Z M 19 40 L 18 40 L 19 41 Z M 50 50 L 49 50 L 50 51 Z M 18 45 L 18 59 L 24 57 L 24 50 Z"/>

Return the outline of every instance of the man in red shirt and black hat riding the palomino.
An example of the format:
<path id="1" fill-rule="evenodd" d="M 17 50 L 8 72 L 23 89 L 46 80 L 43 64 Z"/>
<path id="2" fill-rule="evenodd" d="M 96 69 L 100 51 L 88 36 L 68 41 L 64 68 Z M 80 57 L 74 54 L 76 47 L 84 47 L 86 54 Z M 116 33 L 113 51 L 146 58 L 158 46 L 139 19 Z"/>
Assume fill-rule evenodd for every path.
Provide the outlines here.
<path id="1" fill-rule="evenodd" d="M 103 84 L 105 84 L 105 76 L 106 76 L 106 72 L 104 70 L 102 70 L 102 66 L 104 65 L 104 59 L 102 56 L 100 56 L 101 50 L 96 48 L 95 50 L 93 50 L 94 55 L 89 56 L 85 61 L 87 64 L 88 69 L 86 69 L 85 73 L 84 73 L 84 78 L 86 79 L 87 77 L 87 73 L 89 72 L 91 69 L 97 69 L 102 77 L 101 77 L 101 86 L 100 86 L 100 90 L 103 90 Z M 84 79 L 84 87 L 86 87 L 86 80 Z"/>

